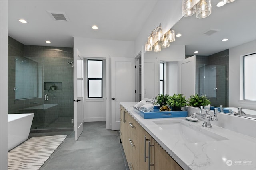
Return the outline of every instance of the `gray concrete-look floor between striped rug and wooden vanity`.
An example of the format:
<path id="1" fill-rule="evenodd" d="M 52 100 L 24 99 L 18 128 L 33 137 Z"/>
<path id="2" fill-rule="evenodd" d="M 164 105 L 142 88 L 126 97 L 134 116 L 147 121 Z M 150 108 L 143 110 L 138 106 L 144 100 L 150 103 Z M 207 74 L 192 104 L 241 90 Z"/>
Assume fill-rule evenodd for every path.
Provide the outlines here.
<path id="1" fill-rule="evenodd" d="M 86 122 L 78 141 L 74 131 L 30 133 L 29 137 L 68 135 L 40 170 L 128 170 L 118 131 L 106 122 Z"/>

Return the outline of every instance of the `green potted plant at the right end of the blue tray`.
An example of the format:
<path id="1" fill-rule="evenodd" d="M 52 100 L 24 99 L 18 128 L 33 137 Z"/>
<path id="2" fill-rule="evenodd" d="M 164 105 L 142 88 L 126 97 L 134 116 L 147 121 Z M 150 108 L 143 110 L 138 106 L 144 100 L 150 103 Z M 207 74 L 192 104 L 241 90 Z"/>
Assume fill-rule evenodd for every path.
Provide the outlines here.
<path id="1" fill-rule="evenodd" d="M 181 107 L 187 104 L 187 100 L 183 94 L 174 94 L 170 96 L 167 104 L 172 107 L 172 111 L 181 111 Z"/>

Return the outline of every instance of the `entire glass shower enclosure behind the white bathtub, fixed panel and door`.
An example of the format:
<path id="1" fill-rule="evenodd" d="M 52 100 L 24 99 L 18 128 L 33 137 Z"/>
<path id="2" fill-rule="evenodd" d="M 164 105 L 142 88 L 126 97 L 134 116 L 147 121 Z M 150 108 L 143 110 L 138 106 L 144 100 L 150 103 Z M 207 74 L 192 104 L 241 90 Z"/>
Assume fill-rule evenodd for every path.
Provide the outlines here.
<path id="1" fill-rule="evenodd" d="M 34 113 L 31 130 L 73 128 L 73 58 L 9 56 L 9 113 Z"/>

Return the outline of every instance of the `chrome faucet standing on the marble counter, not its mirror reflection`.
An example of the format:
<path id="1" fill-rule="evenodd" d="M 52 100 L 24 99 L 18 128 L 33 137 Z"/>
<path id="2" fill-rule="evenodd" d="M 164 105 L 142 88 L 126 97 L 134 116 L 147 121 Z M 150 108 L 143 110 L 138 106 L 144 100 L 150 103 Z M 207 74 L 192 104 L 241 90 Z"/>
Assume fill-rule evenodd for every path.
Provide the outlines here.
<path id="1" fill-rule="evenodd" d="M 211 116 L 210 114 L 208 114 L 208 110 L 206 110 L 206 113 L 202 113 L 203 111 L 203 106 L 200 106 L 200 112 L 199 113 L 192 113 L 192 115 L 190 117 L 192 118 L 196 118 L 196 117 L 201 117 L 202 119 L 204 119 L 204 123 L 203 123 L 203 127 L 212 127 L 211 125 L 211 120 L 212 121 L 218 121 L 217 119 L 217 115 L 218 115 L 218 109 L 214 108 L 214 116 Z"/>

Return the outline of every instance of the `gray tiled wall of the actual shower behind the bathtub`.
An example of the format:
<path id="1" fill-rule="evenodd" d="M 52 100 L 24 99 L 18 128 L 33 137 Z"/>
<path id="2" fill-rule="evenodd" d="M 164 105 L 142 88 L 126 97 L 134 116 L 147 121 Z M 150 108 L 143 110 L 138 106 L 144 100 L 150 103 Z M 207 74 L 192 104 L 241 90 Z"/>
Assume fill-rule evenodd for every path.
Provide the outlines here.
<path id="1" fill-rule="evenodd" d="M 16 57 L 37 57 L 42 61 L 39 64 L 44 66 L 41 73 L 43 82 L 39 88 L 42 93 L 38 98 L 15 100 Z M 71 61 L 73 48 L 23 45 L 8 37 L 8 113 L 21 113 L 20 109 L 42 104 L 59 104 L 52 107 L 51 114 L 55 116 L 51 117 L 73 117 L 73 67 L 68 63 Z M 57 90 L 44 89 L 45 82 L 56 84 Z M 45 94 L 48 94 L 48 101 L 44 100 Z"/>

